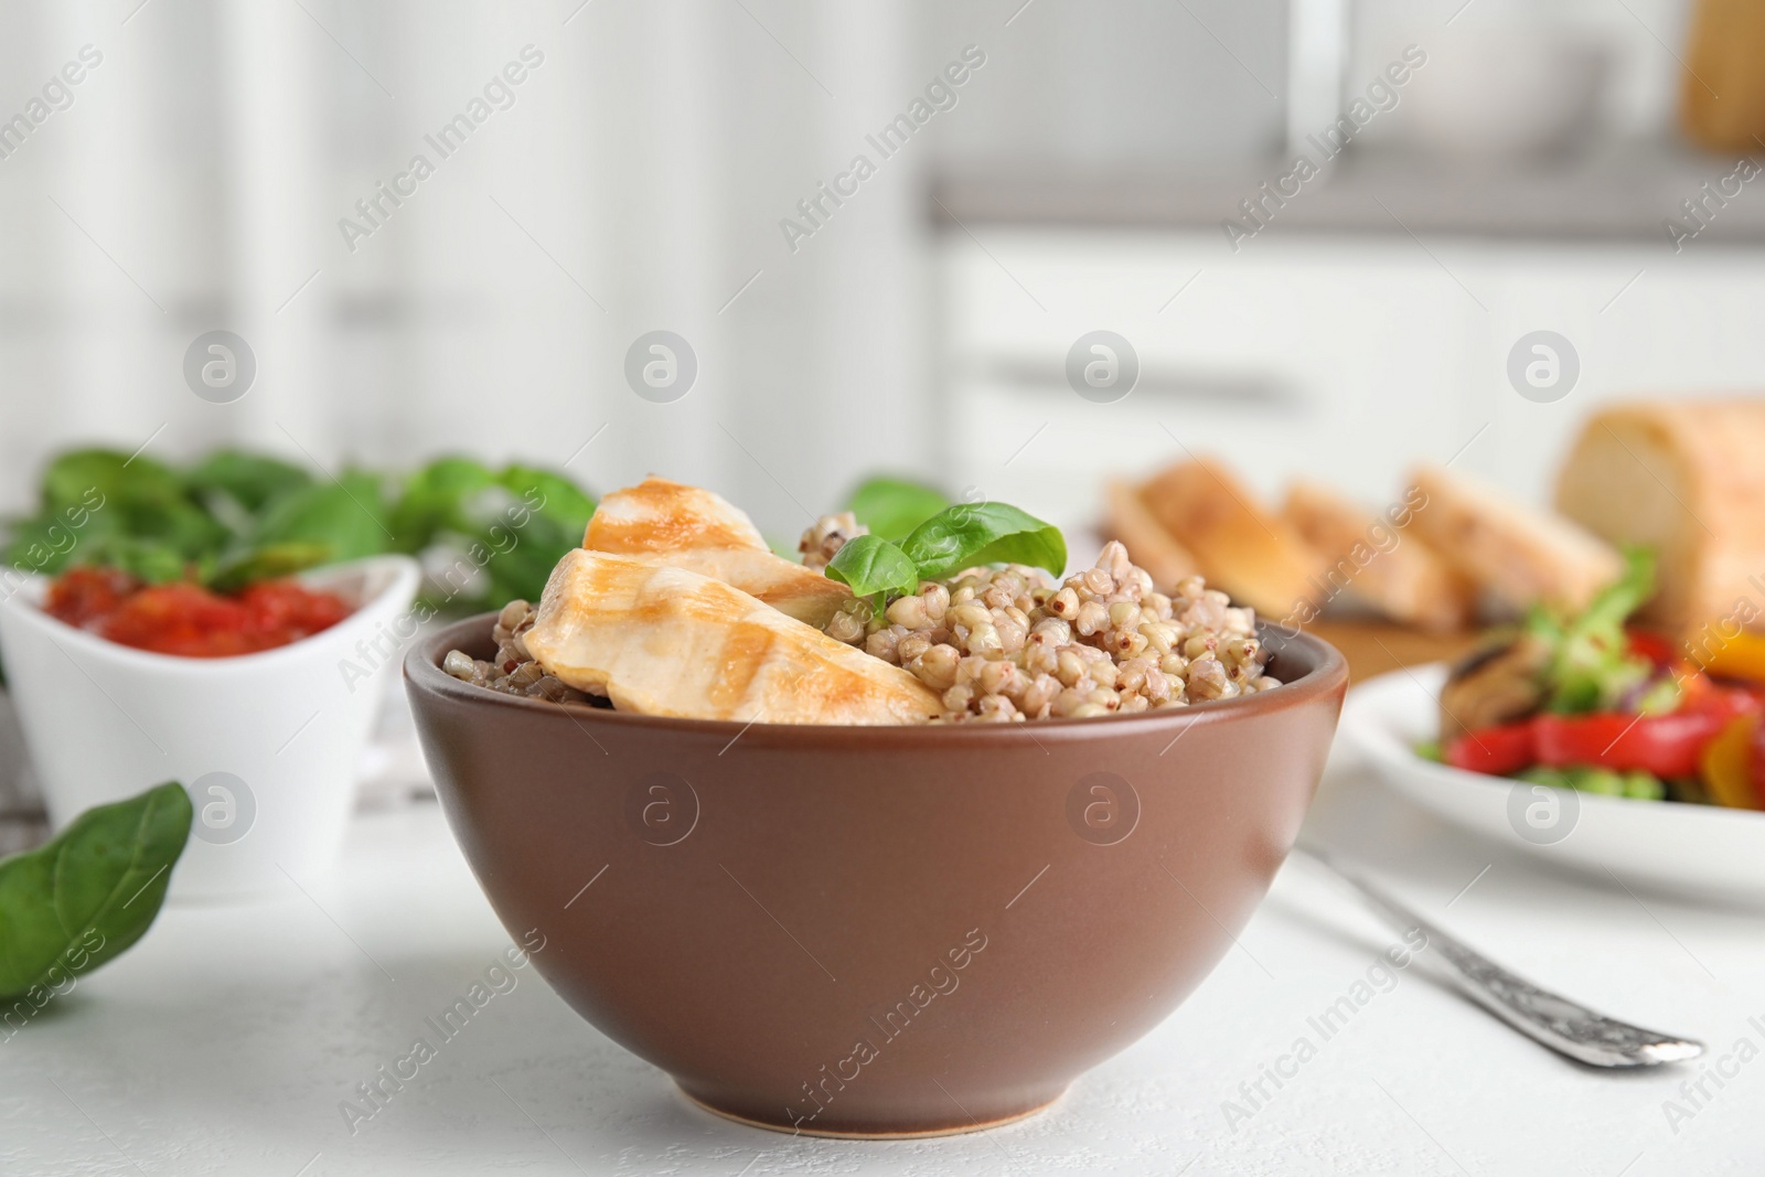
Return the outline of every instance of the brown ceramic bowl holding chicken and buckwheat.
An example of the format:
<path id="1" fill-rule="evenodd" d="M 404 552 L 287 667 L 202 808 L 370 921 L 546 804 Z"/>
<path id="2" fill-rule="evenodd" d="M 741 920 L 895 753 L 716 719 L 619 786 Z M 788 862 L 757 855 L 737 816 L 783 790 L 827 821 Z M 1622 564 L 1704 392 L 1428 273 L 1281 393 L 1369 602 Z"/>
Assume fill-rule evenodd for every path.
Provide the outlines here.
<path id="1" fill-rule="evenodd" d="M 1250 919 L 1347 671 L 1096 720 L 800 727 L 625 715 L 404 662 L 448 824 L 540 974 L 701 1105 L 920 1136 L 1047 1106 L 1158 1025 Z M 1181 1061 L 1172 1061 L 1181 1066 Z"/>

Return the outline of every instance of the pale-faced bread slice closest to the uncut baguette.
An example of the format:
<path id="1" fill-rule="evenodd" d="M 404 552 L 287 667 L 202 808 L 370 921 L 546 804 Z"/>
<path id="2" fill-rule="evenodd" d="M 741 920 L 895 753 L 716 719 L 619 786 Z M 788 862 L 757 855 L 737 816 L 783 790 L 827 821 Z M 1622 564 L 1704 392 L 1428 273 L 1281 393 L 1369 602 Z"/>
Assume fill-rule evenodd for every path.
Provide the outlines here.
<path id="1" fill-rule="evenodd" d="M 1580 609 L 1624 570 L 1617 549 L 1548 510 L 1442 466 L 1410 476 L 1410 526 L 1463 575 L 1497 600 L 1525 609 L 1537 600 Z"/>

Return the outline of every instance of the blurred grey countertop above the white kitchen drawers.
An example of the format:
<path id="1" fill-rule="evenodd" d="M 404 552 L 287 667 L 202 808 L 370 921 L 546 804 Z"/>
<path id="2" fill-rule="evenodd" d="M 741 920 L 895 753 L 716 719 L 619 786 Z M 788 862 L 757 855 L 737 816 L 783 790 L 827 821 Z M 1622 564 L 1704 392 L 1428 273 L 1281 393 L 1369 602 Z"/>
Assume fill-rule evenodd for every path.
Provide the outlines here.
<path id="1" fill-rule="evenodd" d="M 1765 155 L 1765 145 L 1760 148 Z M 1315 154 L 1313 154 L 1315 157 Z M 1707 244 L 1765 245 L 1765 175 L 1744 180 L 1739 155 L 1657 141 L 1590 146 L 1532 166 L 1447 162 L 1394 148 L 1350 148 L 1331 169 L 1285 189 L 1271 210 L 1280 233 L 1428 233 L 1551 240 L 1657 240 L 1677 217 Z M 1075 173 L 1034 166 L 950 168 L 934 176 L 934 224 L 1123 228 L 1223 233 L 1239 201 L 1292 171 L 1292 157 L 1184 171 Z M 1728 196 L 1705 198 L 1705 184 Z M 1682 210 L 1707 199 L 1701 228 Z M 1258 214 L 1260 215 L 1260 214 Z"/>

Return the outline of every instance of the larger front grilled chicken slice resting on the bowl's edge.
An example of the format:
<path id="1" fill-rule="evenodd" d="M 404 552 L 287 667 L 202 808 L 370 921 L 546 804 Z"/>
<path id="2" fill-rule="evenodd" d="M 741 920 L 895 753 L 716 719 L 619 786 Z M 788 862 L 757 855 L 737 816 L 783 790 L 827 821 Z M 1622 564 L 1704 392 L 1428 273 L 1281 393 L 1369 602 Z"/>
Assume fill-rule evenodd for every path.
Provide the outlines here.
<path id="1" fill-rule="evenodd" d="M 923 723 L 907 671 L 687 568 L 575 549 L 524 635 L 547 672 L 621 711 L 766 723 Z"/>

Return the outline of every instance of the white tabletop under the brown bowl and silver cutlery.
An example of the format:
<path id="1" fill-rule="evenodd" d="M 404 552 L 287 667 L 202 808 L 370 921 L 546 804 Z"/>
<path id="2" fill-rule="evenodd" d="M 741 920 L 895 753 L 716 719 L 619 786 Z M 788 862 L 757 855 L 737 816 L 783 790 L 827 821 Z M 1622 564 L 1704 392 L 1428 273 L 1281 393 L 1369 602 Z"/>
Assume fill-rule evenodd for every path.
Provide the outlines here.
<path id="1" fill-rule="evenodd" d="M 1707 1062 L 1580 1068 L 1414 967 L 1324 1041 L 1308 1018 L 1394 937 L 1290 863 L 1241 948 L 1177 1013 L 1024 1124 L 902 1143 L 731 1124 L 687 1105 L 524 969 L 351 1135 L 339 1103 L 508 946 L 439 812 L 422 805 L 358 817 L 344 863 L 302 881 L 305 893 L 169 907 L 134 949 L 0 1043 L 0 1173 L 1765 1170 L 1765 1061 L 1731 1055 L 1740 1039 L 1765 1048 L 1765 914 L 1544 873 L 1352 764 L 1333 766 L 1311 831 L 1504 963 L 1703 1038 L 1707 1062 L 1730 1055 L 1731 1078 L 1705 1080 L 1694 1105 L 1679 1085 Z M 1317 1057 L 1280 1091 L 1264 1080 L 1273 1098 L 1228 1126 L 1223 1103 L 1248 1108 L 1239 1085 L 1299 1036 Z M 1693 1113 L 1670 1124 L 1666 1099 Z"/>

